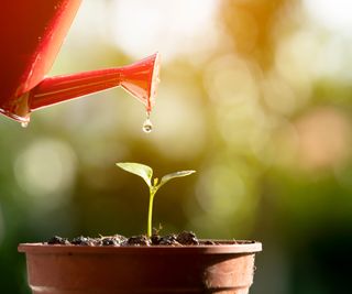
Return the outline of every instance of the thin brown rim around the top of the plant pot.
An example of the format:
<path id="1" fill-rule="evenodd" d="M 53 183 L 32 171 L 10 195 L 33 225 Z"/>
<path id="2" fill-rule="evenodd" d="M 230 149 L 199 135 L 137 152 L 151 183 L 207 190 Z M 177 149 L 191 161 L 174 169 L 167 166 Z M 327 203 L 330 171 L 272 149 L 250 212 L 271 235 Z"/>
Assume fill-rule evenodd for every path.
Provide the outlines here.
<path id="1" fill-rule="evenodd" d="M 19 252 L 24 253 L 255 253 L 262 251 L 262 243 L 248 240 L 212 240 L 217 244 L 198 246 L 75 246 L 47 243 L 20 243 Z"/>

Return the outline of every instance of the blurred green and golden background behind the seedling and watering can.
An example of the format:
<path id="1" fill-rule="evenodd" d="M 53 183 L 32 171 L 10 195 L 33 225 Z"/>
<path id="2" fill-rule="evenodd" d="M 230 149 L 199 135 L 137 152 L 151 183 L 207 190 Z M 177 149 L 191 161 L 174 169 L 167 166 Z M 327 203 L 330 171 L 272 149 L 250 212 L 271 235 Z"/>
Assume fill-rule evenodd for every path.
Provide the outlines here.
<path id="1" fill-rule="evenodd" d="M 85 0 L 50 75 L 156 51 L 143 106 L 121 88 L 0 118 L 0 288 L 28 294 L 19 242 L 145 231 L 147 190 L 116 162 L 197 174 L 163 187 L 162 233 L 263 242 L 251 293 L 348 293 L 352 254 L 349 0 Z"/>

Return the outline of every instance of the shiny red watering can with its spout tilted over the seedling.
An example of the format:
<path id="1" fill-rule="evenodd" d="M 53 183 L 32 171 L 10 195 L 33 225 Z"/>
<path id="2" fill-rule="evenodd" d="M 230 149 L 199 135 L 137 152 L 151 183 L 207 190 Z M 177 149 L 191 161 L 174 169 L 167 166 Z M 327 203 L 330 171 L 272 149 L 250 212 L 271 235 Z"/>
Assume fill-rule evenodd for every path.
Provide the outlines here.
<path id="1" fill-rule="evenodd" d="M 132 65 L 45 77 L 81 0 L 2 0 L 0 3 L 0 112 L 20 122 L 36 109 L 117 86 L 150 113 L 160 56 Z"/>

